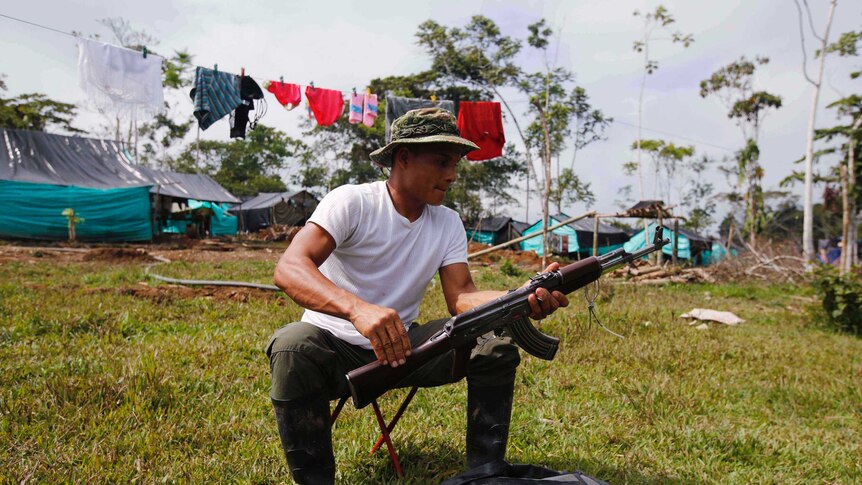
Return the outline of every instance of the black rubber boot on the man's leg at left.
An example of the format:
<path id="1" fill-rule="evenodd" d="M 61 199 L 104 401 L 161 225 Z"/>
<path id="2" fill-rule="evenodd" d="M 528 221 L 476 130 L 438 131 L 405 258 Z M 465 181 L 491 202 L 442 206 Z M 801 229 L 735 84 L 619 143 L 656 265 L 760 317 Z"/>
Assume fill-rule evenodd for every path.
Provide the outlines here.
<path id="1" fill-rule="evenodd" d="M 272 407 L 293 480 L 300 485 L 335 483 L 329 401 L 320 396 L 273 400 Z"/>

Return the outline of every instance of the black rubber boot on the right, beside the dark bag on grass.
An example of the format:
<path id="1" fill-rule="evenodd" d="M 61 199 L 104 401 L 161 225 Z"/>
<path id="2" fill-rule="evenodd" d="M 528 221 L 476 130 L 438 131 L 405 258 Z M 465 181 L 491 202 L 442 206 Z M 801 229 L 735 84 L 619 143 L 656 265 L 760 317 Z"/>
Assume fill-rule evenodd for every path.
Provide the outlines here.
<path id="1" fill-rule="evenodd" d="M 514 381 L 495 387 L 467 386 L 468 468 L 505 458 L 514 389 Z"/>

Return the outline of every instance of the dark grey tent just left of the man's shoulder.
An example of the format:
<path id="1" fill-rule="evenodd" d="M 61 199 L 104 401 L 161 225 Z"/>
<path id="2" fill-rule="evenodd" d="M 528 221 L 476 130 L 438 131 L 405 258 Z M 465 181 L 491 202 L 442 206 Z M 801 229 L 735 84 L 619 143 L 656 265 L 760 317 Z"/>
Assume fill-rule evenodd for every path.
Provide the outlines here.
<path id="1" fill-rule="evenodd" d="M 231 213 L 240 219 L 240 230 L 257 232 L 273 224 L 301 226 L 305 224 L 319 200 L 311 192 L 264 192 L 242 204 Z"/>

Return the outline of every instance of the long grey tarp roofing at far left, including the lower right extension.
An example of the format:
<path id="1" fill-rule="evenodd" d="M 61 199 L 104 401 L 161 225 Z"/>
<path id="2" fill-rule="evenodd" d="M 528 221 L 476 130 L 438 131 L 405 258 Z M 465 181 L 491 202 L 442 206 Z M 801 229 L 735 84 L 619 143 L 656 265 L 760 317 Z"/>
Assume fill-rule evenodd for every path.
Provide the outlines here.
<path id="1" fill-rule="evenodd" d="M 239 202 L 207 175 L 136 165 L 121 142 L 41 131 L 0 129 L 0 180 L 95 189 L 153 186 L 150 192 L 161 195 Z"/>

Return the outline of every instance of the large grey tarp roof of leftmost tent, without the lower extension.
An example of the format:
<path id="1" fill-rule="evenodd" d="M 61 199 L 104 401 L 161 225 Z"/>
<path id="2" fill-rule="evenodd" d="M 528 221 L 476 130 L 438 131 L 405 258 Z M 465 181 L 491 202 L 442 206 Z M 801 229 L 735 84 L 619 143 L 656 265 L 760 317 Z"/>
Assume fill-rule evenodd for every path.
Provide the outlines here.
<path id="1" fill-rule="evenodd" d="M 94 189 L 153 185 L 122 143 L 12 129 L 0 129 L 0 180 Z"/>

